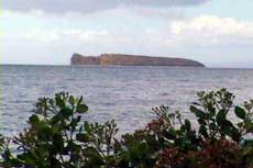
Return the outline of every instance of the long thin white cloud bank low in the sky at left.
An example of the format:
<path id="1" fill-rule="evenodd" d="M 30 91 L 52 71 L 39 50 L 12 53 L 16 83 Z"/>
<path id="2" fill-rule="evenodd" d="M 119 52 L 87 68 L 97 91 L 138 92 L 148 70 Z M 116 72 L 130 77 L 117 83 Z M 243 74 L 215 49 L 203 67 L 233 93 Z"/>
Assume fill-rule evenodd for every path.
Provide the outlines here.
<path id="1" fill-rule="evenodd" d="M 69 43 L 92 43 L 99 42 L 99 40 L 108 38 L 109 34 L 107 31 L 94 31 L 94 30 L 79 30 L 79 29 L 69 29 L 69 30 L 30 30 L 19 32 L 6 32 L 2 34 L 4 41 L 12 41 L 13 43 L 26 42 L 26 43 L 37 43 L 40 45 L 62 45 L 66 42 Z"/>

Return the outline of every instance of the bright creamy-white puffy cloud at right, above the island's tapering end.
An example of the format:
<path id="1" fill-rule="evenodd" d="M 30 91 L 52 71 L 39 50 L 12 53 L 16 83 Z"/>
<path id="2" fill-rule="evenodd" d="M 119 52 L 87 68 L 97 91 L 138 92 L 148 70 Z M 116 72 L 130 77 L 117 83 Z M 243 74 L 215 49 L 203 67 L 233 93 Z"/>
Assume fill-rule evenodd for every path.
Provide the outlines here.
<path id="1" fill-rule="evenodd" d="M 174 22 L 170 29 L 172 32 L 177 35 L 231 35 L 253 37 L 253 22 L 212 15 L 201 15 L 190 21 Z"/>

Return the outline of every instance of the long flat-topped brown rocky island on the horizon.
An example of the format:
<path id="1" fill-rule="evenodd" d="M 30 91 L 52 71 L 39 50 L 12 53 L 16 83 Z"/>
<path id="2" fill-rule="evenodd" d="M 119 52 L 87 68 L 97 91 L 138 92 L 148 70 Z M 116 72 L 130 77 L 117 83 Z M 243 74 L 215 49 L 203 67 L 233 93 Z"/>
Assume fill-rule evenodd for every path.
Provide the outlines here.
<path id="1" fill-rule="evenodd" d="M 143 55 L 101 54 L 100 56 L 82 56 L 74 54 L 72 65 L 122 65 L 122 66 L 183 66 L 205 67 L 204 64 L 185 58 L 151 57 Z"/>

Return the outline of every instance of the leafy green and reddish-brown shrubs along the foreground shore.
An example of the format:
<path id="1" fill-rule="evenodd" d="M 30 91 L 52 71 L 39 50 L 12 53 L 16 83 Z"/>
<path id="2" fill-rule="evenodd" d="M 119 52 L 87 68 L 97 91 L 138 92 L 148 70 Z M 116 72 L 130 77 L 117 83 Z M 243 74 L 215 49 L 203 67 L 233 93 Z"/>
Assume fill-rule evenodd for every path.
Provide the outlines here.
<path id="1" fill-rule="evenodd" d="M 253 168 L 253 100 L 237 105 L 227 89 L 197 96 L 189 107 L 197 128 L 179 111 L 162 105 L 153 109 L 156 119 L 145 127 L 120 138 L 114 120 L 81 119 L 88 112 L 82 97 L 40 98 L 26 130 L 0 136 L 0 167 Z"/>

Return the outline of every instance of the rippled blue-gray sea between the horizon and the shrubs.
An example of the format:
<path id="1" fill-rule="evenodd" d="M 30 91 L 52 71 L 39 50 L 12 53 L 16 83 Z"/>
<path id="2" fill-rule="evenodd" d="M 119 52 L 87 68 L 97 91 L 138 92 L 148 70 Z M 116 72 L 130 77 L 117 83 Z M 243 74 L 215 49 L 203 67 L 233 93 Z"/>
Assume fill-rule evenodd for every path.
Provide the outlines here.
<path id="1" fill-rule="evenodd" d="M 84 96 L 89 121 L 116 119 L 122 132 L 143 126 L 155 105 L 180 109 L 196 92 L 226 87 L 237 102 L 253 98 L 253 70 L 172 67 L 1 66 L 0 133 L 22 131 L 33 102 L 59 91 Z"/>

